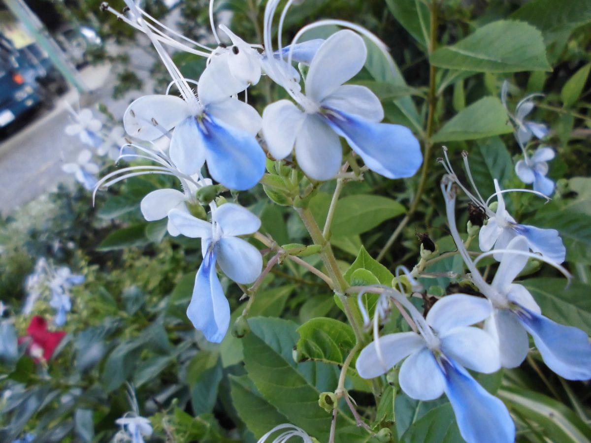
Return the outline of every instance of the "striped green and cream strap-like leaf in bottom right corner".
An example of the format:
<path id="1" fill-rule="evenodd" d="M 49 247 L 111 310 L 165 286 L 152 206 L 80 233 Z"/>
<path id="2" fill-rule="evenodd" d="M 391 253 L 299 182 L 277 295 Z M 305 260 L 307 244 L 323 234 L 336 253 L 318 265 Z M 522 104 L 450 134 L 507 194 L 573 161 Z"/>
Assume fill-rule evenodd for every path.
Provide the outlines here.
<path id="1" fill-rule="evenodd" d="M 503 387 L 497 395 L 519 417 L 541 426 L 540 432 L 548 441 L 578 443 L 591 439 L 591 427 L 557 400 L 517 387 Z"/>

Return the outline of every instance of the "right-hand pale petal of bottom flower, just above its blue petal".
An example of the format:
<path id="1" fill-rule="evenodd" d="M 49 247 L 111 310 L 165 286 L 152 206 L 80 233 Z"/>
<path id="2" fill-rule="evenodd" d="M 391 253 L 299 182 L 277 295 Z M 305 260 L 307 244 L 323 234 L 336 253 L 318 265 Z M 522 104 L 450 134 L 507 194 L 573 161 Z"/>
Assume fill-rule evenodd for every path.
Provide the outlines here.
<path id="1" fill-rule="evenodd" d="M 441 350 L 467 369 L 485 374 L 501 369 L 498 343 L 479 328 L 455 328 L 441 337 Z"/>

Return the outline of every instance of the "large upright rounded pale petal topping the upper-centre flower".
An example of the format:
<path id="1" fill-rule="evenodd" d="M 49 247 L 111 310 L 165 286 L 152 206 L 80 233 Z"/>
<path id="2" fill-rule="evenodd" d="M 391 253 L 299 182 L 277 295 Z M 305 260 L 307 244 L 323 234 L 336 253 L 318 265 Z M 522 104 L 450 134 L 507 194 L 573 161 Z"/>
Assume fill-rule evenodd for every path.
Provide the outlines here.
<path id="1" fill-rule="evenodd" d="M 367 57 L 363 39 L 353 31 L 335 32 L 320 46 L 306 77 L 306 96 L 320 102 L 361 71 Z"/>

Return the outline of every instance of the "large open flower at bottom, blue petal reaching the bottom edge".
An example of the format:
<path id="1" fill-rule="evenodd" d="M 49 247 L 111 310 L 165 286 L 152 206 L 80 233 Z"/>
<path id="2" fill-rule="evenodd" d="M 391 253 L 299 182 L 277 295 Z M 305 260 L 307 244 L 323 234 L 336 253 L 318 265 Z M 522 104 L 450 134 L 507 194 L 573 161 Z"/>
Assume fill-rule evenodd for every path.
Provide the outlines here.
<path id="1" fill-rule="evenodd" d="M 470 326 L 491 315 L 489 301 L 449 295 L 437 301 L 423 319 L 399 295 L 395 299 L 411 312 L 420 334 L 388 334 L 370 343 L 357 359 L 359 375 L 378 377 L 405 359 L 398 377 L 401 389 L 417 400 L 434 400 L 445 393 L 467 442 L 514 441 L 515 425 L 504 403 L 465 369 L 493 373 L 501 368 L 496 341 L 486 331 Z"/>

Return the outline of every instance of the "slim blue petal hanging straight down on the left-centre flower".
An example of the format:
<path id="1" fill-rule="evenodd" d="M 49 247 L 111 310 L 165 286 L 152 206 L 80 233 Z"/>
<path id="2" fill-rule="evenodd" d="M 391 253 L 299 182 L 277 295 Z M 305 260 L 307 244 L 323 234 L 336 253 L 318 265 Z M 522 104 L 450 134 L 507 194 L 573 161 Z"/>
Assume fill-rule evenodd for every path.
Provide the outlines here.
<path id="1" fill-rule="evenodd" d="M 208 341 L 220 343 L 230 324 L 230 305 L 217 278 L 215 253 L 208 251 L 195 276 L 187 317 Z"/>

